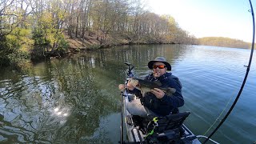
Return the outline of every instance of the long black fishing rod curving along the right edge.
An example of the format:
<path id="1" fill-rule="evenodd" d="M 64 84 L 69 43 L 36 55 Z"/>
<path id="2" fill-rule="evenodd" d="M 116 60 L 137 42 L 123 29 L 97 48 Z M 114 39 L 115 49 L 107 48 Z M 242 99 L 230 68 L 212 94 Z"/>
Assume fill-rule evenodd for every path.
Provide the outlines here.
<path id="1" fill-rule="evenodd" d="M 250 2 L 250 0 L 249 0 L 249 2 Z M 238 92 L 237 97 L 235 98 L 235 100 L 234 100 L 232 106 L 230 107 L 230 110 L 226 113 L 225 117 L 224 117 L 224 118 L 222 119 L 222 121 L 218 124 L 218 126 L 215 128 L 215 130 L 209 135 L 208 138 L 206 138 L 206 140 L 205 140 L 205 142 L 203 142 L 203 144 L 206 143 L 206 142 L 211 138 L 211 136 L 214 135 L 214 133 L 218 130 L 218 128 L 219 128 L 220 126 L 222 126 L 222 123 L 225 122 L 226 118 L 230 115 L 231 111 L 234 109 L 234 106 L 235 106 L 236 103 L 238 102 L 238 98 L 239 98 L 240 95 L 242 94 L 243 87 L 244 87 L 245 84 L 246 84 L 246 79 L 247 79 L 247 76 L 248 76 L 249 71 L 250 71 L 250 64 L 251 64 L 251 61 L 252 61 L 252 58 L 253 58 L 253 55 L 254 55 L 254 39 L 255 39 L 254 8 L 253 8 L 253 5 L 252 5 L 251 2 L 250 2 L 250 10 L 249 10 L 249 11 L 250 11 L 250 13 L 251 13 L 251 15 L 252 15 L 252 18 L 253 18 L 253 41 L 252 41 L 252 44 L 251 44 L 249 63 L 248 63 L 248 66 L 246 66 L 247 69 L 246 69 L 245 78 L 244 78 L 244 80 L 243 80 L 243 82 L 242 82 L 242 86 L 241 86 L 241 88 L 240 88 L 240 90 L 239 90 L 239 92 Z"/>

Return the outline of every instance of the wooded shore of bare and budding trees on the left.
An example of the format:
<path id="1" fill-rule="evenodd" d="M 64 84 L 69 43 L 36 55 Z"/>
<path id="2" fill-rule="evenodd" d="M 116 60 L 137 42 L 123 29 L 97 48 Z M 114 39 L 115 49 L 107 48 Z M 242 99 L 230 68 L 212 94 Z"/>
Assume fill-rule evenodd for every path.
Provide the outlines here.
<path id="1" fill-rule="evenodd" d="M 1 0 L 0 66 L 117 45 L 206 43 L 171 15 L 145 6 L 140 0 Z"/>

